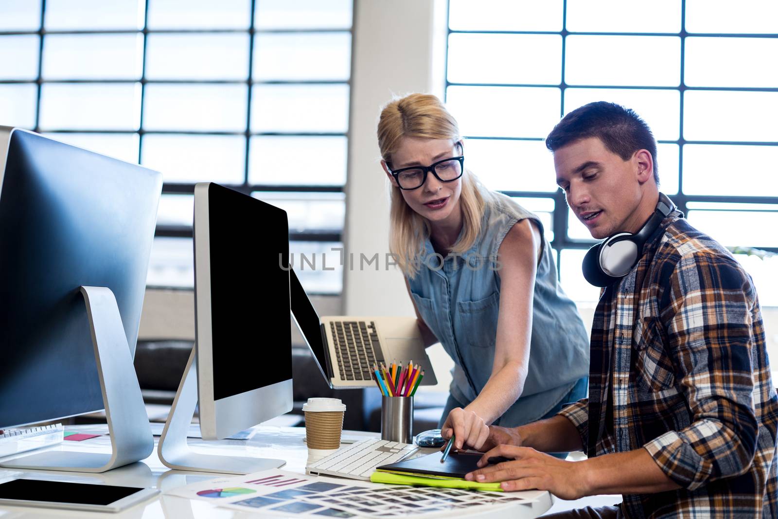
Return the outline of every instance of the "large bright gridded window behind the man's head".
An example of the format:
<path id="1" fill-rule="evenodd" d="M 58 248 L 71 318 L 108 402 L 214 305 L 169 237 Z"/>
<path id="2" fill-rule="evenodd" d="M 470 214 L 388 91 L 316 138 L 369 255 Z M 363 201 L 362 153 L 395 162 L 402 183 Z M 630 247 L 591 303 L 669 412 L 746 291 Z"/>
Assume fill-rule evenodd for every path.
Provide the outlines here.
<path id="1" fill-rule="evenodd" d="M 544 222 L 577 301 L 593 240 L 555 186 L 543 139 L 559 117 L 608 100 L 658 141 L 660 189 L 727 247 L 778 252 L 778 3 L 745 0 L 450 0 L 447 105 L 469 168 Z M 778 257 L 736 254 L 762 305 Z"/>

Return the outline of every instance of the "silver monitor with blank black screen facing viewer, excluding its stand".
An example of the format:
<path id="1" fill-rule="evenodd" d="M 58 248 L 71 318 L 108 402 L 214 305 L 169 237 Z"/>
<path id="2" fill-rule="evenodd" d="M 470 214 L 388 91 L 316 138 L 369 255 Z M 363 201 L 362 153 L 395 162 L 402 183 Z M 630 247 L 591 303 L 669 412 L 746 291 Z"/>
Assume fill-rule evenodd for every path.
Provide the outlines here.
<path id="1" fill-rule="evenodd" d="M 200 429 L 229 437 L 292 410 L 286 212 L 219 186 L 195 187 Z"/>

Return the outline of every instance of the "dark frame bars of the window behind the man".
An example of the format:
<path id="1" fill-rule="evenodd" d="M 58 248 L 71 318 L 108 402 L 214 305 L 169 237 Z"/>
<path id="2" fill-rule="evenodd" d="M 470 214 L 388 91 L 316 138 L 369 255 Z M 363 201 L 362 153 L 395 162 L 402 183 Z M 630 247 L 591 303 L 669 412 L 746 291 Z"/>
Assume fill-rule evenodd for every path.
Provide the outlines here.
<path id="1" fill-rule="evenodd" d="M 559 101 L 559 117 L 564 116 L 565 92 L 568 88 L 575 89 L 657 89 L 657 90 L 678 90 L 680 93 L 680 117 L 677 140 L 657 140 L 659 144 L 677 144 L 678 145 L 678 194 L 668 195 L 684 214 L 687 213 L 687 204 L 689 202 L 727 202 L 727 203 L 756 203 L 756 204 L 778 204 L 778 196 L 720 196 L 720 195 L 688 195 L 683 192 L 683 149 L 686 144 L 717 144 L 733 146 L 776 146 L 778 142 L 746 142 L 746 141 L 698 141 L 686 140 L 683 136 L 684 126 L 684 93 L 689 90 L 715 90 L 731 92 L 778 92 L 778 87 L 718 87 L 718 86 L 686 86 L 684 82 L 684 54 L 686 37 L 740 37 L 740 38 L 778 38 L 778 33 L 688 33 L 686 26 L 686 2 L 681 0 L 681 30 L 678 33 L 629 33 L 629 32 L 587 32 L 587 31 L 569 31 L 567 30 L 567 0 L 562 0 L 562 30 L 544 31 L 544 30 L 452 30 L 450 28 L 450 0 L 447 9 L 447 35 L 446 35 L 446 54 L 444 61 L 444 100 L 448 94 L 449 86 L 494 86 L 494 87 L 528 87 L 528 88 L 559 88 L 561 96 Z M 451 34 L 550 34 L 562 37 L 562 74 L 560 82 L 554 84 L 527 84 L 527 83 L 489 83 L 489 82 L 450 82 L 448 80 L 448 40 Z M 565 64 L 566 64 L 566 44 L 568 36 L 671 36 L 681 39 L 681 80 L 678 86 L 615 86 L 615 85 L 574 85 L 570 86 L 565 82 Z M 471 140 L 508 140 L 508 141 L 544 141 L 545 138 L 537 137 L 496 137 L 496 136 L 465 136 L 465 139 Z M 550 173 L 549 173 L 550 174 Z M 510 191 L 498 190 L 499 192 L 511 197 L 527 198 L 552 198 L 555 202 L 554 212 L 552 213 L 552 226 L 554 239 L 551 246 L 555 250 L 557 265 L 560 265 L 563 249 L 587 249 L 598 240 L 576 240 L 567 235 L 567 216 L 569 208 L 567 206 L 564 191 L 557 189 L 555 192 L 544 191 Z M 703 210 L 703 209 L 699 209 Z M 746 244 L 743 244 L 744 246 Z M 759 247 L 764 251 L 778 253 L 778 247 Z M 558 269 L 558 275 L 561 269 Z"/>

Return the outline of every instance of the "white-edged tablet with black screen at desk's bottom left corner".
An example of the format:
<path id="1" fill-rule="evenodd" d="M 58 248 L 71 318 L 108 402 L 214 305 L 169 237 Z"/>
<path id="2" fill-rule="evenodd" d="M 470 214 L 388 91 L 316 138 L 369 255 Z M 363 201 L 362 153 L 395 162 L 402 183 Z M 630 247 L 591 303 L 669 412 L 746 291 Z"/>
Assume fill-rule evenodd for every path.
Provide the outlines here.
<path id="1" fill-rule="evenodd" d="M 8 479 L 0 482 L 0 504 L 13 507 L 118 512 L 158 493 L 159 490 L 130 486 L 40 479 Z"/>

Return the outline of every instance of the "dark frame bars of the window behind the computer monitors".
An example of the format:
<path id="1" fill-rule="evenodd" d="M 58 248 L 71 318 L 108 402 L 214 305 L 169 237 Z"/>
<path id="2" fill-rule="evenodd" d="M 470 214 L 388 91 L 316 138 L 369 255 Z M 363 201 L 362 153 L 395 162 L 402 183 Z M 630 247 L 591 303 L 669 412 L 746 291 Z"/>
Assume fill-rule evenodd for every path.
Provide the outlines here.
<path id="1" fill-rule="evenodd" d="M 240 191 L 244 195 L 251 195 L 254 192 L 308 192 L 308 193 L 343 193 L 345 192 L 345 186 L 343 185 L 306 185 L 306 184 L 251 184 L 248 181 L 249 178 L 249 166 L 251 160 L 251 138 L 256 136 L 283 136 L 283 137 L 345 137 L 349 138 L 349 126 L 345 129 L 345 132 L 251 132 L 251 97 L 253 95 L 254 85 L 347 85 L 349 91 L 352 87 L 351 73 L 349 73 L 349 79 L 345 80 L 331 80 L 331 79 L 301 79 L 301 80 L 265 80 L 265 79 L 253 79 L 254 72 L 254 36 L 256 34 L 269 34 L 269 33 L 349 33 L 351 37 L 351 52 L 353 53 L 353 2 L 352 2 L 352 23 L 348 29 L 345 28 L 307 28 L 307 29 L 257 29 L 254 26 L 254 16 L 256 12 L 257 2 L 259 0 L 251 0 L 250 6 L 250 24 L 247 29 L 161 29 L 161 30 L 149 30 L 149 0 L 144 0 L 144 14 L 143 14 L 143 27 L 142 29 L 112 29 L 112 30 L 46 30 L 44 27 L 44 20 L 46 16 L 46 0 L 40 2 L 40 21 L 37 30 L 22 30 L 22 31 L 0 31 L 0 36 L 20 36 L 20 35 L 37 35 L 38 39 L 38 62 L 37 62 L 37 75 L 35 79 L 0 79 L 0 85 L 9 84 L 26 84 L 37 86 L 37 97 L 35 104 L 35 126 L 32 128 L 33 132 L 41 132 L 40 128 L 40 96 L 43 90 L 44 84 L 140 84 L 141 85 L 141 99 L 140 99 L 140 120 L 138 123 L 138 129 L 135 132 L 125 130 L 76 130 L 76 129 L 58 129 L 47 130 L 47 133 L 51 134 L 67 134 L 67 133 L 79 133 L 79 134 L 118 134 L 118 135 L 138 135 L 138 163 L 141 162 L 143 153 L 143 142 L 145 135 L 241 135 L 245 139 L 245 154 L 244 154 L 244 177 L 242 184 L 226 184 L 231 189 Z M 148 37 L 149 33 L 152 34 L 248 34 L 249 36 L 249 54 L 248 54 L 248 71 L 246 79 L 146 79 L 146 53 L 148 51 Z M 88 34 L 142 34 L 143 35 L 143 52 L 142 52 L 142 72 L 139 79 L 44 79 L 43 78 L 43 58 L 44 58 L 44 37 L 52 34 L 68 34 L 68 35 L 88 35 Z M 349 63 L 351 60 L 349 60 Z M 144 121 L 144 100 L 146 85 L 149 84 L 186 84 L 186 85 L 245 85 L 247 86 L 247 114 L 246 114 L 246 129 L 242 132 L 223 132 L 223 131 L 201 131 L 201 130 L 145 130 L 143 128 Z M 350 112 L 350 110 L 349 110 Z M 350 122 L 350 113 L 348 117 Z M 163 195 L 192 195 L 195 192 L 194 183 L 164 183 L 162 188 Z M 345 223 L 344 223 L 345 224 Z M 155 237 L 173 237 L 173 238 L 191 238 L 192 228 L 191 226 L 169 226 L 169 225 L 157 225 L 155 230 Z M 342 232 L 333 233 L 331 231 L 322 232 L 315 229 L 305 231 L 289 231 L 289 240 L 293 241 L 323 241 L 323 242 L 339 242 L 342 241 Z"/>

